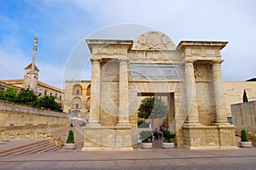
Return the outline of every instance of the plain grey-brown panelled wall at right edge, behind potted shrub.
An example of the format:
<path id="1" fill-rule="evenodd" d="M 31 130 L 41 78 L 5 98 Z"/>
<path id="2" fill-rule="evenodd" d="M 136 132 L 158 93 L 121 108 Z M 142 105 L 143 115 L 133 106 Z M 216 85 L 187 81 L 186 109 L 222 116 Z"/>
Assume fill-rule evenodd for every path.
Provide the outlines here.
<path id="1" fill-rule="evenodd" d="M 236 132 L 240 132 L 241 129 L 256 132 L 256 100 L 231 105 L 231 112 Z"/>

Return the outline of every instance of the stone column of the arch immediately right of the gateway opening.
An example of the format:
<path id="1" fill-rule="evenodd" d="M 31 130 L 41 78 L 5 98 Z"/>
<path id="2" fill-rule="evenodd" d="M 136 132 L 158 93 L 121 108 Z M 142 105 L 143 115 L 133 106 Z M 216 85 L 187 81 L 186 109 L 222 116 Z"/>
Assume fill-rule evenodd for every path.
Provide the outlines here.
<path id="1" fill-rule="evenodd" d="M 200 125 L 198 119 L 198 108 L 195 89 L 194 61 L 187 60 L 185 63 L 186 91 L 187 91 L 187 110 L 188 125 Z"/>

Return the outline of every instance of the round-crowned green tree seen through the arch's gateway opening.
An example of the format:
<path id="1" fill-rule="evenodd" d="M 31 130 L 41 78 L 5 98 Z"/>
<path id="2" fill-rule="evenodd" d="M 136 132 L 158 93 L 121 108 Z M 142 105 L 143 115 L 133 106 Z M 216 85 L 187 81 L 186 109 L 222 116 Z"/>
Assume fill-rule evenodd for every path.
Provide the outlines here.
<path id="1" fill-rule="evenodd" d="M 167 106 L 159 98 L 151 97 L 142 100 L 142 104 L 137 110 L 137 116 L 144 119 L 163 118 L 167 115 Z M 154 123 L 153 123 L 154 124 Z"/>

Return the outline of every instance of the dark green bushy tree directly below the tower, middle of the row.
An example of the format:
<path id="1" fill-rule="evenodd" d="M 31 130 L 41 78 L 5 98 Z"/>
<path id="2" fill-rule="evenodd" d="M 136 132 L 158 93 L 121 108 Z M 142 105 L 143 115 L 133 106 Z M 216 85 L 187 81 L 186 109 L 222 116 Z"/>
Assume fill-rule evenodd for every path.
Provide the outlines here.
<path id="1" fill-rule="evenodd" d="M 38 97 L 28 88 L 22 88 L 17 96 L 17 102 L 24 105 L 35 105 Z"/>

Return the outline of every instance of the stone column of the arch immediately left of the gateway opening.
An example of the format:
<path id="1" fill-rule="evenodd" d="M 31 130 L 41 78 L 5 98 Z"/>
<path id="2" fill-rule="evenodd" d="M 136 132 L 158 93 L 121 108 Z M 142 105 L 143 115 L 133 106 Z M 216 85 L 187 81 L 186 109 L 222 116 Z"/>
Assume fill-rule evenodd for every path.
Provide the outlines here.
<path id="1" fill-rule="evenodd" d="M 117 126 L 129 126 L 128 59 L 119 58 L 119 122 Z"/>

